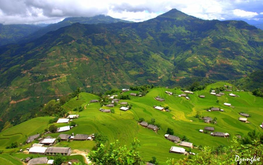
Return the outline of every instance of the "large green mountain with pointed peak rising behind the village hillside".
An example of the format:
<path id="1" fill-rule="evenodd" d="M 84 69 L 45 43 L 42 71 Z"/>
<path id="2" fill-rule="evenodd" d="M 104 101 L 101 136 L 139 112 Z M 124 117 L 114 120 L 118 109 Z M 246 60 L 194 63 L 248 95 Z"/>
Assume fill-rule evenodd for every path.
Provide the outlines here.
<path id="1" fill-rule="evenodd" d="M 0 115 L 21 122 L 50 99 L 191 78 L 232 80 L 262 70 L 263 31 L 176 9 L 141 23 L 74 23 L 0 49 Z"/>

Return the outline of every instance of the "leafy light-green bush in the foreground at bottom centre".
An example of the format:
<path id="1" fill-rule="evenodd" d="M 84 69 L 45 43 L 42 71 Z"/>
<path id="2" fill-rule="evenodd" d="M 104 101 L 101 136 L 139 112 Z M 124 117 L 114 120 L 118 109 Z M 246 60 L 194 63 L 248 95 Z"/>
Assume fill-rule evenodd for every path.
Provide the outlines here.
<path id="1" fill-rule="evenodd" d="M 140 152 L 137 151 L 139 146 L 139 140 L 134 138 L 132 148 L 129 149 L 124 146 L 120 146 L 120 142 L 110 143 L 110 148 L 107 149 L 105 145 L 101 144 L 96 151 L 90 152 L 89 159 L 94 164 L 143 164 L 144 161 L 140 156 Z"/>

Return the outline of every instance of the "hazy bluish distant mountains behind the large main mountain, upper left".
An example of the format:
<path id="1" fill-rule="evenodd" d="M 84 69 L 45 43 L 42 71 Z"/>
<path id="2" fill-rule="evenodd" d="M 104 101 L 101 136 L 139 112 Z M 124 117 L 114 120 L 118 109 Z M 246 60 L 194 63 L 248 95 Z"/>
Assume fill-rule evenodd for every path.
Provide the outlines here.
<path id="1" fill-rule="evenodd" d="M 98 23 L 116 23 L 129 22 L 126 20 L 112 18 L 110 16 L 98 15 L 94 17 L 70 17 L 65 18 L 55 24 L 39 25 L 2 25 L 0 24 L 0 46 L 9 43 L 24 43 L 41 37 L 50 31 L 55 31 L 60 27 L 72 25 L 73 23 L 98 24 Z"/>

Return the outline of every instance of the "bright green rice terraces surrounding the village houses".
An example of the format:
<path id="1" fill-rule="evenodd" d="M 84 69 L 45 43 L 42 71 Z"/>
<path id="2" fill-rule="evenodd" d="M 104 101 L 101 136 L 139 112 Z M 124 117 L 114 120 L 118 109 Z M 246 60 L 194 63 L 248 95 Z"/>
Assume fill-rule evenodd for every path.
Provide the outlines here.
<path id="1" fill-rule="evenodd" d="M 221 96 L 210 94 L 213 89 L 222 88 L 224 85 L 225 87 L 232 86 L 229 83 L 217 82 L 208 85 L 204 90 L 191 93 L 177 88 L 153 87 L 145 96 L 139 96 L 139 91 L 124 90 L 125 92 L 122 92 L 116 90 L 109 96 L 105 95 L 101 98 L 94 94 L 80 92 L 78 96 L 61 106 L 67 111 L 68 115 L 79 115 L 78 118 L 73 118 L 73 120 L 70 118 L 70 123 L 74 121 L 76 124 L 70 130 L 64 131 L 63 134 L 75 135 L 75 137 L 77 134 L 86 134 L 91 135 L 90 139 L 92 139 L 92 135 L 103 133 L 107 138 L 107 147 L 115 140 L 119 140 L 122 146 L 127 145 L 127 147 L 130 147 L 136 137 L 140 144 L 137 149 L 141 152 L 144 160 L 149 161 L 152 157 L 155 157 L 159 164 L 166 164 L 168 159 L 179 160 L 186 158 L 186 154 L 169 152 L 172 146 L 175 149 L 181 147 L 185 149 L 187 155 L 192 154 L 192 157 L 194 157 L 195 154 L 201 152 L 201 146 L 214 148 L 220 145 L 230 146 L 233 144 L 233 139 L 243 137 L 251 130 L 262 132 L 260 125 L 263 116 L 263 98 L 256 97 L 251 92 L 238 90 L 234 86 L 224 88 L 231 89 L 231 91 L 224 90 L 221 92 Z M 137 96 L 130 95 L 131 93 L 135 93 Z M 184 94 L 188 99 L 184 97 Z M 229 94 L 235 94 L 236 97 Z M 121 95 L 129 96 L 129 99 L 115 99 Z M 157 96 L 162 99 L 157 99 Z M 103 104 L 105 102 L 103 99 L 107 97 L 112 99 L 109 98 L 109 103 Z M 46 106 L 51 106 L 51 104 L 56 104 L 59 101 L 59 99 L 57 101 L 51 100 Z M 110 103 L 114 107 L 106 106 Z M 224 103 L 229 103 L 231 106 L 226 106 Z M 129 109 L 122 111 L 120 110 L 122 106 L 127 106 Z M 163 109 L 155 109 L 155 106 L 163 107 Z M 215 110 L 211 111 L 213 108 Z M 76 111 L 76 109 L 82 110 Z M 104 113 L 102 109 L 111 109 L 108 112 L 112 113 Z M 239 121 L 240 117 L 245 118 L 240 113 L 242 115 L 249 114 L 246 117 L 247 122 Z M 139 120 L 141 118 L 146 123 L 152 123 L 154 119 L 153 124 L 158 125 L 159 129 L 154 131 L 140 125 L 141 121 Z M 204 118 L 210 120 L 207 121 Z M 43 154 L 28 154 L 27 148 L 30 148 L 33 143 L 38 143 L 38 137 L 33 139 L 32 142 L 23 142 L 35 134 L 41 134 L 40 137 L 57 138 L 61 134 L 60 132 L 43 133 L 53 124 L 57 127 L 69 125 L 69 123 L 51 123 L 50 120 L 52 119 L 54 117 L 36 117 L 2 131 L 0 133 L 0 150 L 4 150 L 5 153 L 0 154 L 0 164 L 5 164 L 6 160 L 8 160 L 8 164 L 22 164 L 18 160 L 30 156 L 32 158 L 50 158 L 51 156 Z M 209 131 L 211 127 L 214 131 Z M 186 147 L 181 143 L 179 144 L 179 142 L 176 143 L 168 138 L 166 139 L 168 136 L 165 136 L 167 128 L 172 128 L 174 136 L 179 137 L 181 141 L 192 143 L 192 146 Z M 219 133 L 218 136 L 217 133 Z M 220 137 L 220 133 L 224 133 L 223 136 Z M 186 140 L 182 140 L 184 138 Z M 24 145 L 19 145 L 17 148 L 6 148 L 13 142 L 23 143 Z M 95 140 L 74 140 L 74 137 L 73 141 L 61 139 L 61 141 L 54 143 L 52 147 L 70 147 L 72 153 L 83 152 L 88 154 L 96 147 L 96 136 Z M 19 152 L 20 149 L 21 152 Z M 75 157 L 80 162 L 87 163 L 81 155 L 66 156 L 66 160 L 76 159 Z"/>

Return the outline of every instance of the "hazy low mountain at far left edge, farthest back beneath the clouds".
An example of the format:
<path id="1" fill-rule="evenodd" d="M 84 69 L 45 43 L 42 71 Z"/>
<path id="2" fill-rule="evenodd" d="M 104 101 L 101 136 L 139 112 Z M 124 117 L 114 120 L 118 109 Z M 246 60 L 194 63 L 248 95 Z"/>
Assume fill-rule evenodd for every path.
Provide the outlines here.
<path id="1" fill-rule="evenodd" d="M 0 24 L 0 46 L 13 43 L 19 39 L 39 30 L 40 27 L 36 25 L 3 25 Z"/>

